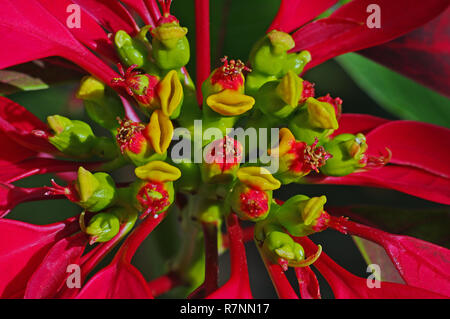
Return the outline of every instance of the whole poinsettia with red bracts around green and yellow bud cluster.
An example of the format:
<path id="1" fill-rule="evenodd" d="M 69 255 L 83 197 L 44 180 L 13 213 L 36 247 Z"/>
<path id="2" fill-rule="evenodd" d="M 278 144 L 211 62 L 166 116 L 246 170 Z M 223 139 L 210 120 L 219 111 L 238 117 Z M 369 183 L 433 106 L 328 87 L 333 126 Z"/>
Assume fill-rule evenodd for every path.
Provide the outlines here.
<path id="1" fill-rule="evenodd" d="M 89 118 L 43 122 L 0 97 L 0 296 L 252 298 L 244 243 L 253 241 L 280 298 L 321 298 L 314 268 L 336 298 L 450 297 L 450 250 L 389 232 L 408 227 L 408 212 L 380 212 L 380 226 L 351 202 L 329 207 L 326 194 L 302 191 L 369 186 L 450 204 L 448 128 L 345 113 L 341 98 L 306 80 L 309 69 L 357 51 L 449 95 L 448 1 L 282 0 L 261 37 L 245 38 L 249 56 L 224 56 L 212 69 L 210 4 L 195 0 L 195 81 L 192 31 L 173 15 L 180 2 L 0 1 L 0 81 L 42 88 L 26 74 L 32 61 L 49 72 L 41 79 L 78 77 Z M 199 133 L 199 123 L 214 134 Z M 275 134 L 246 144 L 233 128 Z M 59 181 L 20 186 L 41 174 Z M 297 194 L 281 201 L 287 185 Z M 76 216 L 46 225 L 8 218 L 21 203 L 56 199 L 76 204 Z M 158 228 L 160 250 L 174 241 L 179 249 L 150 280 L 133 257 Z M 401 279 L 373 287 L 338 265 L 326 254 L 332 243 L 309 238 L 329 229 L 382 247 Z M 231 274 L 219 285 L 227 250 Z"/>

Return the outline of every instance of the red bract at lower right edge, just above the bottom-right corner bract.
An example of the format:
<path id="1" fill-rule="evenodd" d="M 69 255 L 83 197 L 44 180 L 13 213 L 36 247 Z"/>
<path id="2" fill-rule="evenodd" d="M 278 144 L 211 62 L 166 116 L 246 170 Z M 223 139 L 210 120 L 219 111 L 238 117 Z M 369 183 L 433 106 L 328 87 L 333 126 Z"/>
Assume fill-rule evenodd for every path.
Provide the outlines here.
<path id="1" fill-rule="evenodd" d="M 392 235 L 351 221 L 341 226 L 383 246 L 408 285 L 450 297 L 450 250 L 409 236 Z"/>

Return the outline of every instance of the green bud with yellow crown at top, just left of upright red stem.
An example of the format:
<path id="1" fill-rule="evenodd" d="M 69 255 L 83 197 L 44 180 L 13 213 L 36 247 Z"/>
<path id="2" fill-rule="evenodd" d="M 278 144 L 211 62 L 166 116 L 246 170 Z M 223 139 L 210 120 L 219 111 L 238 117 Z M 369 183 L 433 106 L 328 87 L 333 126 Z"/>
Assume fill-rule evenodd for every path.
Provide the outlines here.
<path id="1" fill-rule="evenodd" d="M 152 54 L 156 64 L 163 70 L 180 69 L 190 59 L 188 30 L 178 21 L 162 23 L 152 33 Z"/>

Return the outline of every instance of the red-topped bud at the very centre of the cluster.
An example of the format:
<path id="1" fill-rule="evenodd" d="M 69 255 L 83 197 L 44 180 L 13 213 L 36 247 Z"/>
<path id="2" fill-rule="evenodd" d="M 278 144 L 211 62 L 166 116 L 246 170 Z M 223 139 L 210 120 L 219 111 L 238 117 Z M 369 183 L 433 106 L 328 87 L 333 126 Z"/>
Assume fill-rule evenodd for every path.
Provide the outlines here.
<path id="1" fill-rule="evenodd" d="M 237 140 L 225 136 L 206 145 L 205 161 L 200 166 L 205 183 L 231 182 L 242 160 L 242 145 Z"/>

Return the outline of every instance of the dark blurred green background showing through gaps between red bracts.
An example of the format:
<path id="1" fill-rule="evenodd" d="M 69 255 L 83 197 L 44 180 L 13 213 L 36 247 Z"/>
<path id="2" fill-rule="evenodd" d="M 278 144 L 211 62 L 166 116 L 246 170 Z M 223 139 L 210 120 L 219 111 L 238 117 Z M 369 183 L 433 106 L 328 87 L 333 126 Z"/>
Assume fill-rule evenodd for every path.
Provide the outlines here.
<path id="1" fill-rule="evenodd" d="M 195 28 L 194 1 L 174 1 L 173 14 L 183 26 L 188 27 L 191 43 L 191 62 L 188 70 L 195 77 Z M 213 0 L 211 1 L 211 59 L 212 67 L 219 65 L 224 55 L 245 61 L 253 43 L 270 25 L 279 6 L 278 0 Z M 423 86 L 385 69 L 355 54 L 328 61 L 308 71 L 304 76 L 316 83 L 318 96 L 330 93 L 343 99 L 343 111 L 367 113 L 389 119 L 414 119 L 449 127 L 449 100 Z M 42 120 L 47 115 L 59 113 L 75 119 L 86 119 L 82 104 L 74 98 L 76 83 L 51 85 L 46 90 L 18 92 L 12 100 L 27 107 Z M 425 108 L 425 111 L 424 111 Z M 96 127 L 99 129 L 98 127 Z M 128 174 L 127 169 L 121 173 Z M 49 185 L 51 176 L 42 175 L 22 180 L 17 185 Z M 369 220 L 382 220 L 387 231 L 413 235 L 442 246 L 450 247 L 450 228 L 447 206 L 420 200 L 396 191 L 346 186 L 290 185 L 278 191 L 276 196 L 286 200 L 295 194 L 318 196 L 325 194 L 329 206 L 364 205 L 376 207 Z M 388 210 L 388 208 L 392 208 Z M 36 224 L 56 222 L 79 213 L 80 209 L 64 200 L 26 203 L 19 205 L 8 218 Z M 386 216 L 388 216 L 386 218 Z M 170 223 L 171 221 L 167 221 Z M 404 225 L 404 227 L 399 227 Z M 147 279 L 166 271 L 164 253 L 158 251 L 156 237 L 165 236 L 164 224 L 139 248 L 134 263 Z M 390 227 L 390 228 L 389 228 Z M 367 277 L 366 261 L 353 239 L 336 231 L 328 230 L 312 236 L 322 244 L 324 251 L 337 263 L 355 275 Z M 176 241 L 176 238 L 173 239 Z M 176 245 L 175 245 L 176 246 Z M 276 298 L 275 291 L 253 243 L 246 245 L 249 255 L 251 286 L 257 298 Z M 173 248 L 169 248 L 173 249 Z M 371 250 L 376 251 L 376 250 Z M 169 251 L 170 252 L 170 251 Z M 167 251 L 165 252 L 167 253 Z M 384 256 L 385 257 L 385 256 Z M 383 258 L 377 255 L 376 258 Z M 105 260 L 99 267 L 104 266 Z M 372 260 L 377 262 L 377 260 Z M 229 276 L 229 255 L 221 259 L 221 282 Z M 380 259 L 381 262 L 381 259 Z M 391 280 L 389 263 L 383 263 L 382 277 Z M 292 271 L 288 276 L 295 287 Z M 332 298 L 327 283 L 319 275 L 322 296 Z M 173 295 L 172 295 L 173 296 Z M 168 295 L 170 297 L 170 295 Z"/>

